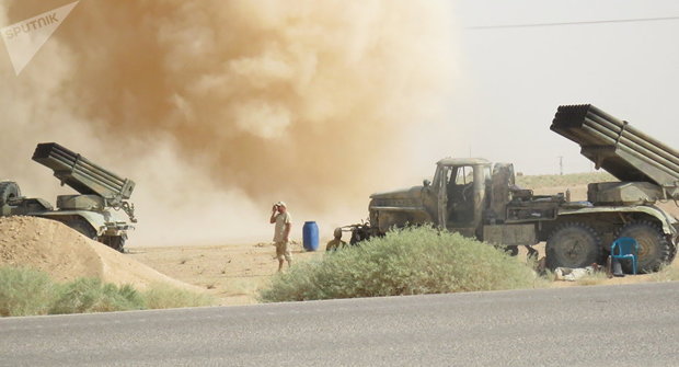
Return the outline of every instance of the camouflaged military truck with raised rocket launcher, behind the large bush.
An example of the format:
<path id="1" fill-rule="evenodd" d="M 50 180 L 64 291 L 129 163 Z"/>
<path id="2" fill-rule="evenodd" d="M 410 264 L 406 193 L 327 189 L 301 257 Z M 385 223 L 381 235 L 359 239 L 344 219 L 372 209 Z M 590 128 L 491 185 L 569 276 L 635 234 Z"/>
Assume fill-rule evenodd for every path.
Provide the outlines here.
<path id="1" fill-rule="evenodd" d="M 551 129 L 620 182 L 590 183 L 587 200 L 572 202 L 568 193 L 518 187 L 510 163 L 446 158 L 433 181 L 371 195 L 368 222 L 352 228 L 352 242 L 392 227 L 434 223 L 513 253 L 545 241 L 550 268 L 603 264 L 618 237 L 638 241 L 643 272 L 671 262 L 679 223 L 656 204 L 679 198 L 679 153 L 589 104 L 560 106 Z"/>

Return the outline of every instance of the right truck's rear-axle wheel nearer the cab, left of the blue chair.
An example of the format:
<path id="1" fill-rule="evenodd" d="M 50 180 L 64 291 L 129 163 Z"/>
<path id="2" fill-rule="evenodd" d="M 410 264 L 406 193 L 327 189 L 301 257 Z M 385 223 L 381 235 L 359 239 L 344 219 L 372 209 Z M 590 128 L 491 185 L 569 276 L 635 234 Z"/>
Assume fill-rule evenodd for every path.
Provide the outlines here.
<path id="1" fill-rule="evenodd" d="M 546 240 L 546 266 L 585 267 L 601 260 L 601 240 L 594 228 L 580 223 L 563 223 Z"/>

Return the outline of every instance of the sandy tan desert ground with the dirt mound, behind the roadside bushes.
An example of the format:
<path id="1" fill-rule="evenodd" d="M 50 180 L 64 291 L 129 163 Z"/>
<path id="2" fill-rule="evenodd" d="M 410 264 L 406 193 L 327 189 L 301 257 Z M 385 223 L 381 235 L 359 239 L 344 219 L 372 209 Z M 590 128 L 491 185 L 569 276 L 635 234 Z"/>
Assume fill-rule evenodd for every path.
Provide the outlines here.
<path id="1" fill-rule="evenodd" d="M 586 195 L 586 186 L 571 186 L 574 199 Z M 556 193 L 566 187 L 536 190 L 537 194 Z M 675 216 L 672 203 L 663 206 Z M 301 239 L 294 239 L 294 263 L 324 255 L 325 241 L 319 251 L 307 252 Z M 345 239 L 346 240 L 346 239 Z M 536 249 L 544 255 L 544 243 Z M 517 261 L 526 261 L 520 249 Z M 30 266 L 49 273 L 55 280 L 66 282 L 80 276 L 100 277 L 116 284 L 145 288 L 154 283 L 207 293 L 216 305 L 250 305 L 257 302 L 258 289 L 265 287 L 277 272 L 278 261 L 271 242 L 188 246 L 127 246 L 122 254 L 91 241 L 68 227 L 34 217 L 0 218 L 0 265 Z M 287 265 L 286 265 L 287 266 Z M 671 267 L 677 267 L 677 263 Z M 598 279 L 597 285 L 660 280 L 655 274 L 628 275 Z M 578 282 L 553 282 L 553 287 L 577 286 Z"/>

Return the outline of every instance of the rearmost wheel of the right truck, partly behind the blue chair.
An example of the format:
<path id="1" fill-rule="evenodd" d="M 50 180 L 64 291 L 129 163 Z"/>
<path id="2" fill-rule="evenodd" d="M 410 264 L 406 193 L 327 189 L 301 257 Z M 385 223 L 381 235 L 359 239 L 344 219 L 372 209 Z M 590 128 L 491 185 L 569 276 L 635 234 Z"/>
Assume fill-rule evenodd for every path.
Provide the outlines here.
<path id="1" fill-rule="evenodd" d="M 620 229 L 618 237 L 631 237 L 638 242 L 636 267 L 640 273 L 657 272 L 669 261 L 669 242 L 660 228 L 651 221 L 632 221 Z M 631 265 L 625 265 L 625 272 L 631 271 Z"/>

